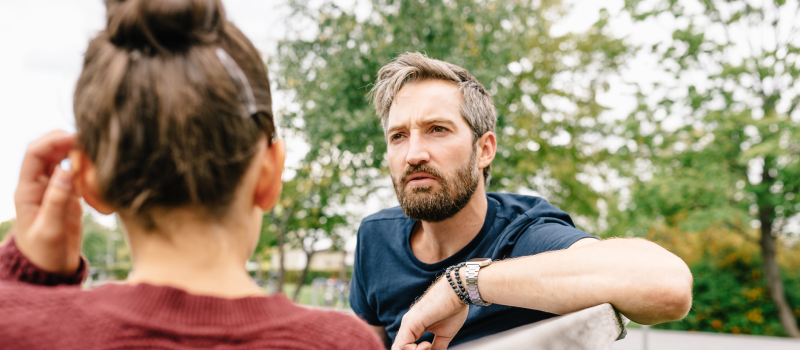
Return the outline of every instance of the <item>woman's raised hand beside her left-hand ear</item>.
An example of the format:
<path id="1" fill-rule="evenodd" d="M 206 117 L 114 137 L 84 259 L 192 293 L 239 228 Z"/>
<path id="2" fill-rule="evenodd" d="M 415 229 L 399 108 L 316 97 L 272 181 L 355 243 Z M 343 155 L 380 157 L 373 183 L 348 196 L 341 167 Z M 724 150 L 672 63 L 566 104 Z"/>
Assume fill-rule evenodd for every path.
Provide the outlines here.
<path id="1" fill-rule="evenodd" d="M 14 193 L 17 247 L 36 266 L 62 274 L 81 261 L 80 197 L 72 173 L 59 165 L 74 143 L 75 135 L 60 130 L 31 142 Z"/>

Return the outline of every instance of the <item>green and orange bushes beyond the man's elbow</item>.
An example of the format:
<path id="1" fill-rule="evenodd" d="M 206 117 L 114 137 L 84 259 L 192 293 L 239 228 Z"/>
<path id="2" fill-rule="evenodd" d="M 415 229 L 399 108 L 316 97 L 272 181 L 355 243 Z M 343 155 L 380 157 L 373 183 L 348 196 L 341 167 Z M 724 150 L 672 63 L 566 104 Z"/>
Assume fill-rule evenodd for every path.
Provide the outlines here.
<path id="1" fill-rule="evenodd" d="M 655 328 L 785 336 L 763 278 L 757 237 L 756 230 L 740 233 L 725 226 L 652 227 L 646 238 L 683 259 L 694 277 L 689 315 Z M 779 245 L 778 262 L 789 303 L 800 305 L 800 245 Z M 793 312 L 800 318 L 800 307 Z"/>

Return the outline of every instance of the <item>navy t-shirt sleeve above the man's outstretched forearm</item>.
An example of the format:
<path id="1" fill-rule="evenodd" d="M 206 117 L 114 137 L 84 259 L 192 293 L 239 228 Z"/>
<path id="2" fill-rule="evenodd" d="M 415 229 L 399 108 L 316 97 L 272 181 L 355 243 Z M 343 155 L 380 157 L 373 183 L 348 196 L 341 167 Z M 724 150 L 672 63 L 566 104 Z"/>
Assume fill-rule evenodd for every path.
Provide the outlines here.
<path id="1" fill-rule="evenodd" d="M 578 240 L 595 238 L 558 218 L 540 218 L 518 238 L 508 258 L 569 248 Z"/>

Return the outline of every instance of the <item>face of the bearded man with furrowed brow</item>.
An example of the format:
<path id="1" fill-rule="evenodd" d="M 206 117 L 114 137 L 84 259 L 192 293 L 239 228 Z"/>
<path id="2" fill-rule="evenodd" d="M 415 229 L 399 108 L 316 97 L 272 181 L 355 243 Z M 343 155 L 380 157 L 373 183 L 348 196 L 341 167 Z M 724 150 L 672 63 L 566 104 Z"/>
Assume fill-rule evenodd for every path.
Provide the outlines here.
<path id="1" fill-rule="evenodd" d="M 446 220 L 478 187 L 477 149 L 460 106 L 458 87 L 425 80 L 405 85 L 389 110 L 389 170 L 400 206 L 412 219 Z"/>

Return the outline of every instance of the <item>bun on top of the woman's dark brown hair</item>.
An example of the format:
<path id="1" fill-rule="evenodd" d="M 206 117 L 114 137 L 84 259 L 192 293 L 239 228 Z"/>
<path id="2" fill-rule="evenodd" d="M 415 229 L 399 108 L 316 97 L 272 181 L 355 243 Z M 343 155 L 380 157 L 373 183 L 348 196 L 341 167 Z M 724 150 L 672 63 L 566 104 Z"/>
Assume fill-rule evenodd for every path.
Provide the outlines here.
<path id="1" fill-rule="evenodd" d="M 131 50 L 179 52 L 216 40 L 219 0 L 106 0 L 111 42 Z"/>

